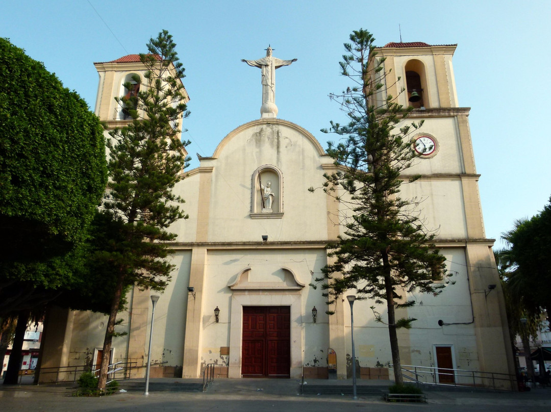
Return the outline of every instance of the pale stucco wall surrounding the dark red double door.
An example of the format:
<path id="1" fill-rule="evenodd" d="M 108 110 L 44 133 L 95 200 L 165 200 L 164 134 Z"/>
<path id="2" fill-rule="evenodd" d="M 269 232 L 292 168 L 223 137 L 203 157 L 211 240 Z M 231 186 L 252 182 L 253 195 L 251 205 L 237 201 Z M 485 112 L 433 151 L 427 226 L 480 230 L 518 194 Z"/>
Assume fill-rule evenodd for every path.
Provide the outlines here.
<path id="1" fill-rule="evenodd" d="M 305 284 L 301 289 L 298 299 L 294 299 L 291 305 L 300 305 L 294 308 L 292 313 L 299 313 L 299 316 L 291 315 L 291 340 L 300 345 L 302 353 L 300 359 L 292 359 L 293 363 L 299 365 L 304 362 L 320 362 L 317 366 L 326 365 L 327 347 L 328 347 L 328 316 L 325 314 L 327 305 L 325 299 L 321 296 L 319 290 L 312 289 L 308 284 L 314 276 L 321 273 L 321 268 L 327 263 L 324 250 L 278 250 L 274 257 L 273 251 L 257 250 L 244 251 L 212 251 L 208 254 L 208 272 L 206 276 L 206 285 L 208 290 L 212 291 L 204 296 L 204 315 L 203 315 L 203 348 L 202 361 L 206 363 L 214 362 L 217 365 L 227 366 L 228 356 L 220 355 L 220 347 L 230 346 L 230 323 L 234 317 L 232 310 L 232 296 L 234 291 L 229 285 L 237 281 L 237 275 L 246 267 L 251 267 L 249 275 L 250 282 L 259 283 L 283 283 L 284 275 L 282 267 L 290 269 L 296 279 Z M 246 295 L 266 296 L 265 299 L 249 299 Z M 240 297 L 242 302 L 247 305 L 264 305 L 268 303 L 268 298 L 273 298 L 273 293 L 250 291 L 245 296 Z M 277 301 L 277 298 L 276 298 Z M 249 303 L 246 303 L 249 302 Z M 270 304 L 274 303 L 273 300 Z M 281 301 L 283 302 L 283 300 Z M 288 303 L 279 303 L 287 305 Z M 214 308 L 220 309 L 219 323 L 215 322 Z M 238 305 L 239 308 L 241 307 Z M 318 309 L 317 323 L 312 320 L 312 307 Z M 236 307 L 236 306 L 234 306 Z M 237 318 L 241 318 L 239 313 Z M 241 328 L 238 323 L 231 325 L 233 328 Z M 312 365 L 313 366 L 313 365 Z"/>

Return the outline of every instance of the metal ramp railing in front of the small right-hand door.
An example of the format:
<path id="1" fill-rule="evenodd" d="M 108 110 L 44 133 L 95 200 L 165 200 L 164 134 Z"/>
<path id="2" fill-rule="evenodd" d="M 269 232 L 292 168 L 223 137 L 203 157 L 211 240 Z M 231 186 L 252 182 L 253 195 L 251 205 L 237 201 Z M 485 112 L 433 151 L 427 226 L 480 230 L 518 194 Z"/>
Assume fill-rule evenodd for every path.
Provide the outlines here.
<path id="1" fill-rule="evenodd" d="M 390 365 L 390 370 L 393 367 Z M 402 365 L 404 381 L 419 385 L 466 387 L 512 391 L 516 376 L 498 372 L 480 372 L 464 369 L 447 369 L 430 366 Z"/>

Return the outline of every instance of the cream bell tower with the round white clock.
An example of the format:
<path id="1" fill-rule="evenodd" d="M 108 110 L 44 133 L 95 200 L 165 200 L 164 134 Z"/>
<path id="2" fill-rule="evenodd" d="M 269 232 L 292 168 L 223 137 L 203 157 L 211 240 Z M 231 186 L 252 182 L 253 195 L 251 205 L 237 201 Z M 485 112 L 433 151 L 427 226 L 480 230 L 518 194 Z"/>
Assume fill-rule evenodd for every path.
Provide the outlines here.
<path id="1" fill-rule="evenodd" d="M 462 272 L 456 278 L 463 277 L 459 280 L 468 285 L 470 302 L 457 302 L 457 308 L 471 306 L 472 318 L 457 318 L 452 311 L 442 314 L 437 323 L 431 321 L 431 327 L 443 329 L 441 336 L 431 338 L 433 345 L 446 346 L 447 334 L 456 333 L 455 328 L 460 325 L 472 324 L 477 341 L 476 368 L 514 374 L 504 297 L 491 251 L 494 239 L 486 238 L 484 231 L 478 191 L 480 175 L 474 165 L 468 123 L 471 109 L 458 104 L 453 77 L 456 47 L 392 42 L 377 48 L 376 58 L 385 58 L 386 88 L 382 90 L 386 89 L 398 104 L 413 106 L 405 122 L 423 121 L 410 136 L 418 160 L 406 171 L 407 175 L 422 177 L 412 185 L 403 185 L 403 196 L 418 199 L 420 217 L 426 228 L 436 233 L 435 245 L 446 256 L 450 272 Z M 387 97 L 384 94 L 381 92 L 376 100 L 382 103 Z M 488 294 L 494 289 L 495 294 Z M 418 364 L 415 355 L 404 355 L 411 357 L 403 359 L 404 364 Z"/>

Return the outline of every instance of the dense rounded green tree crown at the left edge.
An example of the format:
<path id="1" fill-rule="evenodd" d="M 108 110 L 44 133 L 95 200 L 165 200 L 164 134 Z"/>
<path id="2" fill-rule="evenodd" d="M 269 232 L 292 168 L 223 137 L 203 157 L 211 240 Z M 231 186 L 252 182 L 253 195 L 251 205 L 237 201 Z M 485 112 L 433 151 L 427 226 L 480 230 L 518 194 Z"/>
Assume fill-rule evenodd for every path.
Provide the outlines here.
<path id="1" fill-rule="evenodd" d="M 102 127 L 77 93 L 6 39 L 0 77 L 2 260 L 62 256 L 83 240 L 105 189 Z"/>

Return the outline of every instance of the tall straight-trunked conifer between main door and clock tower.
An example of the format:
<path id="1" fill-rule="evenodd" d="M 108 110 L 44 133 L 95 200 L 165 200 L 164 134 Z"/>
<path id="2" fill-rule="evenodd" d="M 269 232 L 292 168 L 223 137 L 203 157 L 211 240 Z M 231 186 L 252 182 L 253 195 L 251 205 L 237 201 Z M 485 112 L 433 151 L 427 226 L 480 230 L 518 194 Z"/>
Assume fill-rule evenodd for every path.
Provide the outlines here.
<path id="1" fill-rule="evenodd" d="M 338 171 L 326 174 L 325 191 L 343 205 L 344 236 L 329 245 L 332 258 L 323 270 L 324 295 L 334 302 L 347 290 L 360 299 L 386 301 L 388 333 L 396 383 L 403 383 L 396 330 L 409 328 L 413 318 L 397 319 L 395 309 L 410 306 L 408 292 L 437 292 L 435 276 L 445 273 L 445 258 L 431 243 L 434 234 L 424 229 L 415 202 L 400 196 L 402 173 L 417 156 L 412 150 L 410 132 L 420 124 L 405 124 L 411 108 L 397 104 L 396 96 L 386 94 L 384 58 L 377 56 L 374 37 L 365 30 L 354 31 L 341 74 L 352 81 L 338 95 L 348 124 L 331 122 L 333 132 L 343 138 L 329 143 L 327 153 Z M 381 95 L 386 95 L 382 101 Z M 412 176 L 413 182 L 419 176 Z M 382 321 L 381 316 L 377 316 Z"/>

